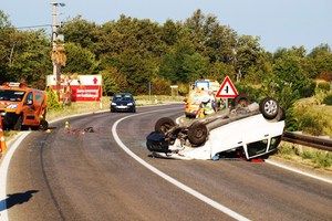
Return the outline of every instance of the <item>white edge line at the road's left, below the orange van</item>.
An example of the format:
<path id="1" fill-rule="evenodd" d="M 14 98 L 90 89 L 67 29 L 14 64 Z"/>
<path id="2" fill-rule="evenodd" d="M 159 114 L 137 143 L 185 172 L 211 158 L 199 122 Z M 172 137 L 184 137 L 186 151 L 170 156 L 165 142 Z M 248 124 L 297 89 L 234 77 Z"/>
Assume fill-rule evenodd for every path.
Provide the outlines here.
<path id="1" fill-rule="evenodd" d="M 7 173 L 11 157 L 13 156 L 17 148 L 20 146 L 21 141 L 30 134 L 30 131 L 23 131 L 22 135 L 11 145 L 8 152 L 4 155 L 4 158 L 0 166 L 0 221 L 8 221 L 7 212 Z"/>

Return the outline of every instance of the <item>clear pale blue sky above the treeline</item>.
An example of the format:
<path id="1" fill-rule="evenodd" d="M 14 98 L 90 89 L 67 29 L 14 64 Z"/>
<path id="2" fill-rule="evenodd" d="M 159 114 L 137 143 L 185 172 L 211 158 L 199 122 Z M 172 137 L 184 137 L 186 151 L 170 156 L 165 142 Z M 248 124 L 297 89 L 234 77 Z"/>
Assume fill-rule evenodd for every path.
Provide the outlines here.
<path id="1" fill-rule="evenodd" d="M 52 0 L 0 0 L 0 10 L 14 27 L 51 24 Z M 214 14 L 238 34 L 260 36 L 270 52 L 303 45 L 308 52 L 321 43 L 332 46 L 332 0 L 58 0 L 60 20 L 82 15 L 102 24 L 121 14 L 151 19 L 163 24 L 167 19 L 185 21 L 200 9 Z M 48 28 L 50 29 L 50 28 Z"/>

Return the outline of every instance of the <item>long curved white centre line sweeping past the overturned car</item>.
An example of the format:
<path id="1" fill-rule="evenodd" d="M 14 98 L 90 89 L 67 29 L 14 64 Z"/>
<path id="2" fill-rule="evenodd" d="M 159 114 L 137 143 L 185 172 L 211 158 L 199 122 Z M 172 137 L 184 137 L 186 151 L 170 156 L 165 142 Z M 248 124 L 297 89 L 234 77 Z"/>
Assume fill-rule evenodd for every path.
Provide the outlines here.
<path id="1" fill-rule="evenodd" d="M 174 109 L 174 108 L 168 108 L 168 109 Z M 166 110 L 166 109 L 163 109 L 163 110 Z M 114 139 L 115 141 L 118 144 L 118 146 L 125 151 L 127 152 L 131 157 L 133 157 L 135 160 L 137 160 L 141 165 L 143 165 L 144 167 L 146 167 L 147 169 L 149 169 L 151 171 L 153 171 L 154 173 L 158 175 L 159 177 L 164 178 L 165 180 L 167 180 L 168 182 L 170 182 L 172 185 L 175 185 L 176 187 L 178 187 L 179 189 L 188 192 L 189 194 L 194 196 L 195 198 L 206 202 L 207 204 L 214 207 L 215 209 L 224 212 L 225 214 L 236 219 L 236 220 L 243 220 L 243 221 L 247 221 L 249 219 L 245 218 L 243 215 L 232 211 L 231 209 L 220 204 L 219 202 L 201 194 L 200 192 L 191 189 L 190 187 L 177 181 L 176 179 L 172 178 L 170 176 L 162 172 L 160 170 L 158 170 L 157 168 L 153 167 L 152 165 L 147 164 L 146 161 L 144 161 L 142 158 L 139 158 L 137 155 L 135 155 L 132 150 L 129 150 L 128 147 L 126 147 L 120 139 L 117 133 L 116 133 L 116 127 L 118 125 L 118 123 L 121 123 L 122 120 L 124 119 L 127 119 L 129 117 L 133 117 L 133 116 L 138 116 L 138 115 L 144 115 L 144 114 L 151 114 L 151 113 L 154 113 L 154 112 L 162 112 L 162 110 L 153 110 L 153 112 L 147 112 L 147 113 L 142 113 L 142 114 L 136 114 L 136 115 L 129 115 L 129 116 L 126 116 L 126 117 L 123 117 L 118 120 L 115 122 L 115 124 L 113 125 L 112 127 L 112 134 L 114 136 Z"/>

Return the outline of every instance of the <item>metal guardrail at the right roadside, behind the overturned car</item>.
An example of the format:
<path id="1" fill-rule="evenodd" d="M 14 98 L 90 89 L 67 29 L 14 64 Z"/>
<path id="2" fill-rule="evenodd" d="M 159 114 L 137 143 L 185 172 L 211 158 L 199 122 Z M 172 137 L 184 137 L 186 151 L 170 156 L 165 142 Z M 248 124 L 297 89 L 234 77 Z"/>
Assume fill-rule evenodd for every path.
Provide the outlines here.
<path id="1" fill-rule="evenodd" d="M 314 136 L 284 131 L 282 135 L 282 140 L 298 145 L 304 145 L 308 147 L 313 147 L 317 149 L 332 151 L 332 139 L 323 139 Z"/>

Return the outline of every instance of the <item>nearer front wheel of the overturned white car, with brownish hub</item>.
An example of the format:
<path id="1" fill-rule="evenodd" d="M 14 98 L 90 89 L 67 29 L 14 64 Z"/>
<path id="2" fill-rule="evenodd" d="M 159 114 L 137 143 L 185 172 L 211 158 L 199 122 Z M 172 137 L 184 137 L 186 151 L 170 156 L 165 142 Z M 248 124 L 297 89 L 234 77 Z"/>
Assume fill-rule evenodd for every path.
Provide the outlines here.
<path id="1" fill-rule="evenodd" d="M 191 145 L 200 146 L 203 145 L 208 136 L 208 129 L 205 124 L 200 122 L 195 122 L 188 128 L 188 139 Z"/>

